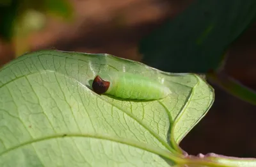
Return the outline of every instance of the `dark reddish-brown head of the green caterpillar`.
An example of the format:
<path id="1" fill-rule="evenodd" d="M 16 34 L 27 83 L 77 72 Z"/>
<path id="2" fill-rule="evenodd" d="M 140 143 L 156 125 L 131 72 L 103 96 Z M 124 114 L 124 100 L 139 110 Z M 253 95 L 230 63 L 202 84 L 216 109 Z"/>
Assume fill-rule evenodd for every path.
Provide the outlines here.
<path id="1" fill-rule="evenodd" d="M 105 93 L 109 88 L 109 81 L 104 81 L 100 76 L 96 76 L 92 83 L 92 88 L 95 93 L 102 94 Z"/>

